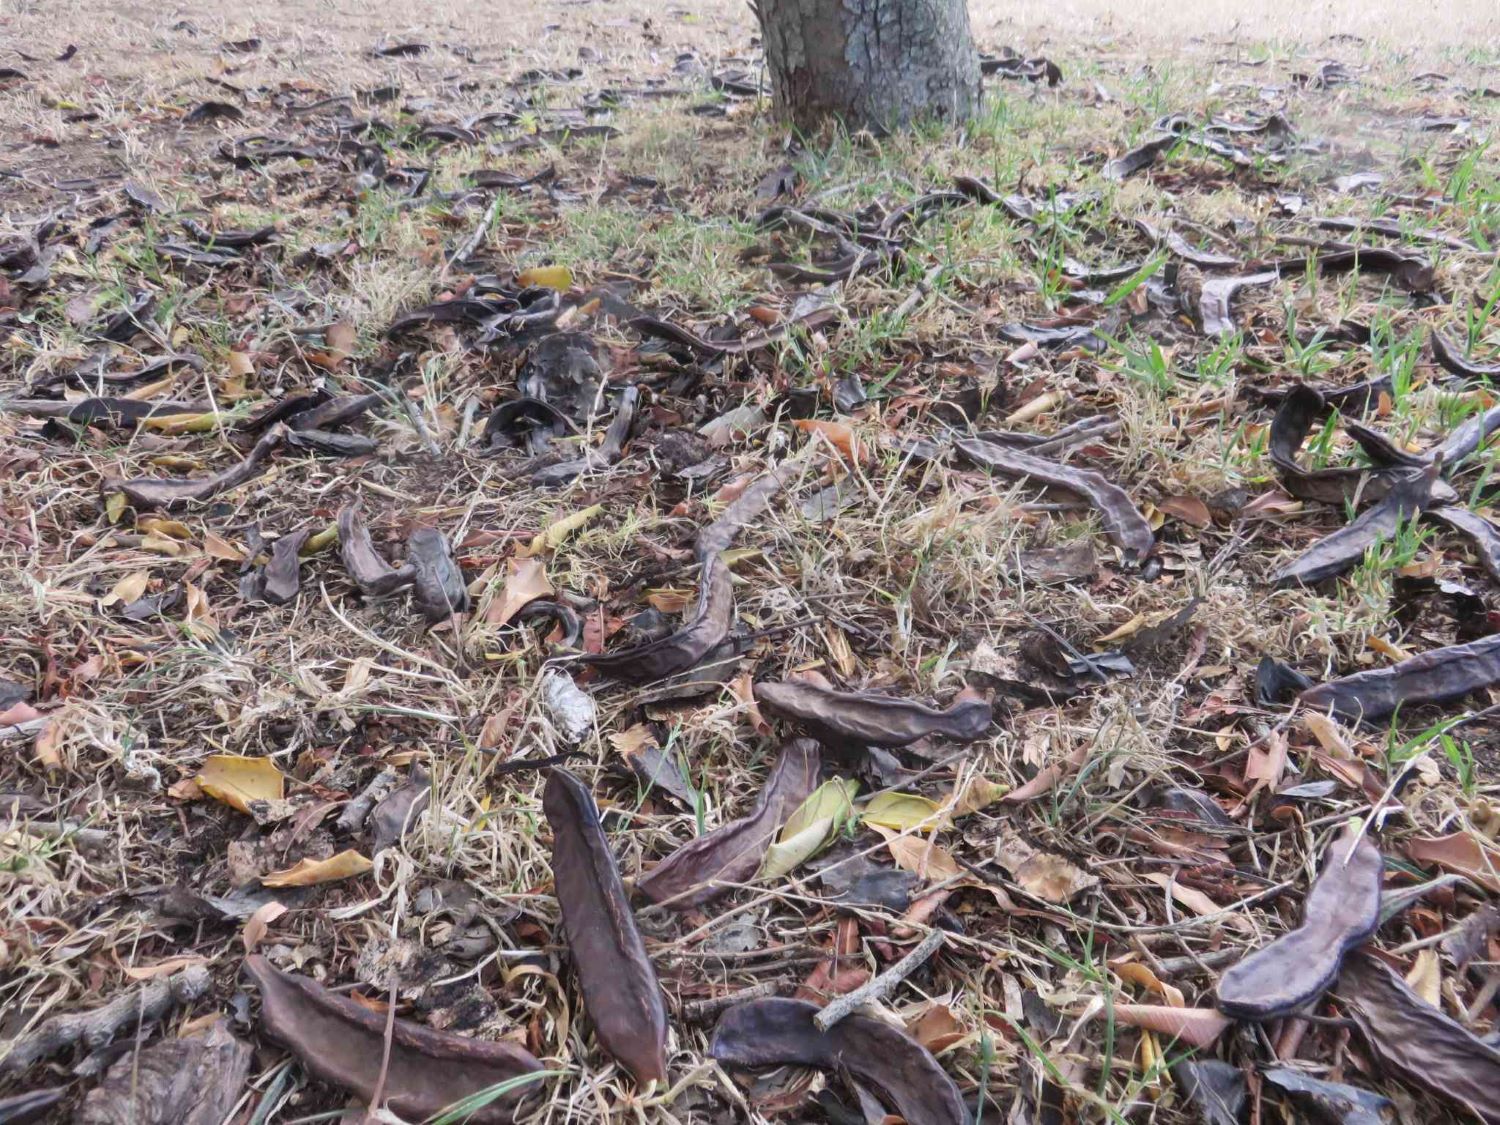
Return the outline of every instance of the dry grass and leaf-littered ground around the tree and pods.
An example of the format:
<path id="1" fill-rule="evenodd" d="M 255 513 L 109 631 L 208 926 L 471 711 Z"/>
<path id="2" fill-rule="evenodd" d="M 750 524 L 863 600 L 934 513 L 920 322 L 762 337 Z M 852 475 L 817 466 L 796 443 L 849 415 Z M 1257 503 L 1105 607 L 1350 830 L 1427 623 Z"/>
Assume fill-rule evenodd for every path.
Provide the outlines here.
<path id="1" fill-rule="evenodd" d="M 258 1050 L 243 1082 L 232 1048 L 200 1060 L 234 1078 L 214 1120 L 340 1108 L 255 1030 L 240 968 L 256 946 L 381 1020 L 394 993 L 404 1018 L 525 1047 L 560 1072 L 528 1119 L 862 1120 L 837 1074 L 717 1066 L 718 1000 L 825 1002 L 936 928 L 942 950 L 884 1004 L 984 1120 L 1196 1120 L 1172 1072 L 1192 1047 L 1114 1011 L 1209 1016 L 1220 972 L 1296 924 L 1350 818 L 1377 820 L 1388 963 L 1492 1034 L 1485 693 L 1364 726 L 1257 694 L 1266 657 L 1324 681 L 1496 627 L 1482 554 L 1432 522 L 1396 520 L 1330 580 L 1274 585 L 1389 477 L 1347 506 L 1292 495 L 1266 392 L 1384 380 L 1318 414 L 1310 471 L 1368 466 L 1371 448 L 1378 465 L 1378 435 L 1428 450 L 1496 405 L 1492 372 L 1461 376 L 1431 345 L 1455 342 L 1460 369 L 1500 357 L 1492 16 L 1456 6 L 1418 39 L 1412 12 L 1329 12 L 1348 34 L 1288 42 L 1276 12 L 1230 39 L 1202 9 L 1172 28 L 1202 38 L 1167 51 L 1140 15 L 1090 40 L 976 9 L 986 51 L 1046 52 L 1062 84 L 998 63 L 962 134 L 806 148 L 765 118 L 753 27 L 729 4 L 0 16 L 0 66 L 20 72 L 0 81 L 0 396 L 24 400 L 0 414 L 0 1038 L 202 976 L 138 1036 L 122 1017 L 112 1048 L 0 1059 L 0 1096 L 57 1089 L 42 1113 L 72 1119 L 99 1070 L 123 1059 L 129 1089 L 132 1060 L 165 1058 L 162 1028 L 224 1014 Z M 1352 38 L 1380 33 L 1401 50 Z M 1167 134 L 1184 140 L 1154 164 L 1108 164 Z M 932 195 L 956 177 L 1000 198 Z M 771 206 L 810 218 L 772 226 Z M 238 248 L 236 231 L 264 234 Z M 1395 266 L 1334 268 L 1336 238 Z M 1216 282 L 1275 262 L 1216 332 Z M 524 290 L 538 267 L 566 274 Z M 410 316 L 452 298 L 488 303 Z M 166 356 L 195 358 L 150 368 Z M 597 450 L 628 386 L 610 462 Z M 140 428 L 66 418 L 102 388 L 178 405 Z M 568 416 L 558 440 L 492 442 L 532 441 L 498 408 L 538 388 Z M 320 392 L 376 398 L 180 512 L 105 483 L 231 466 L 264 411 Z M 1359 420 L 1374 442 L 1350 436 Z M 1046 453 L 1124 488 L 1154 534 L 1146 566 L 1076 490 L 951 448 L 998 430 L 1072 434 Z M 562 662 L 690 620 L 694 537 L 777 465 L 786 486 L 726 554 L 742 651 L 706 692 Z M 1450 507 L 1486 514 L 1492 453 L 1448 470 Z M 429 624 L 420 597 L 362 590 L 334 531 L 350 504 L 392 564 L 414 530 L 441 531 L 471 609 Z M 300 588 L 267 604 L 262 567 L 298 532 Z M 1100 652 L 1114 663 L 1077 670 Z M 544 692 L 549 660 L 594 700 L 580 735 Z M 686 912 L 638 898 L 672 1028 L 668 1088 L 642 1094 L 580 1006 L 525 764 L 576 754 L 633 884 L 753 807 L 792 724 L 752 684 L 798 674 L 940 706 L 966 693 L 994 722 L 968 746 L 830 747 L 828 776 L 861 796 L 820 855 Z M 270 760 L 282 795 L 214 800 L 214 756 Z M 382 836 L 345 813 L 387 771 L 429 800 Z M 238 780 L 264 796 L 262 774 Z M 933 804 L 872 814 L 874 790 Z M 1371 818 L 1390 790 L 1401 808 Z M 374 867 L 262 882 L 346 850 Z M 1464 1119 L 1376 1062 L 1356 1008 L 1215 1024 L 1197 1058 L 1251 1077 L 1257 1120 L 1310 1112 L 1263 1082 L 1276 1060 L 1378 1090 L 1406 1120 Z"/>

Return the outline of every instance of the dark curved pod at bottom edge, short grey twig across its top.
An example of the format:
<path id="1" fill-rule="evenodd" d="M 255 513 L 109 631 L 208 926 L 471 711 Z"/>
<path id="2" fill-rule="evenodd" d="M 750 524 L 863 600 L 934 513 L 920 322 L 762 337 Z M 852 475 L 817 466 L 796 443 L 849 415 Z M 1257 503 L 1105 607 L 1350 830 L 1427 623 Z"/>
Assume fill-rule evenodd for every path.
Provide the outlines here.
<path id="1" fill-rule="evenodd" d="M 766 999 L 726 1011 L 708 1053 L 730 1066 L 818 1066 L 848 1071 L 879 1090 L 908 1125 L 966 1125 L 954 1080 L 916 1040 L 868 1016 L 818 1030 L 818 1005 Z"/>

